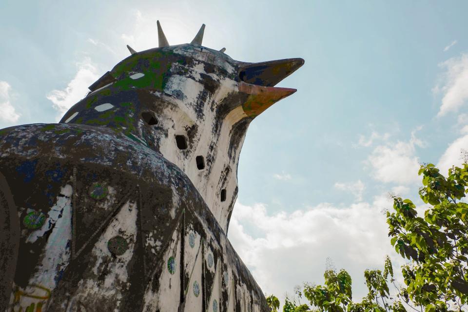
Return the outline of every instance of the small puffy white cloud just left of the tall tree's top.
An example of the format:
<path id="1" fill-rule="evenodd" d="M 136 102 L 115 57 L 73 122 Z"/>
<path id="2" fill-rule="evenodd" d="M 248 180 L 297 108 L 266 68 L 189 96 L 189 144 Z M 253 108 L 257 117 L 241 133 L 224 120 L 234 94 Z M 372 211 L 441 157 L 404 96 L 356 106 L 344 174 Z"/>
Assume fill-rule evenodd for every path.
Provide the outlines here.
<path id="1" fill-rule="evenodd" d="M 399 185 L 418 182 L 420 165 L 415 155 L 416 146 L 424 147 L 425 144 L 415 136 L 415 131 L 408 142 L 386 142 L 376 146 L 365 161 L 372 169 L 371 176 L 381 182 Z"/>

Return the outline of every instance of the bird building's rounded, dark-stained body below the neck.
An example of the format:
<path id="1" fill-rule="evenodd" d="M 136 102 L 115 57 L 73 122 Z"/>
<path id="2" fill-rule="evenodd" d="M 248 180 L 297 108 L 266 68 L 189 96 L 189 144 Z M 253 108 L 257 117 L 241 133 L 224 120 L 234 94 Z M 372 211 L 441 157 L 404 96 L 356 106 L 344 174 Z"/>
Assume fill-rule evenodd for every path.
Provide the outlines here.
<path id="1" fill-rule="evenodd" d="M 161 155 L 85 125 L 1 135 L 21 222 L 8 311 L 265 311 L 203 198 Z"/>

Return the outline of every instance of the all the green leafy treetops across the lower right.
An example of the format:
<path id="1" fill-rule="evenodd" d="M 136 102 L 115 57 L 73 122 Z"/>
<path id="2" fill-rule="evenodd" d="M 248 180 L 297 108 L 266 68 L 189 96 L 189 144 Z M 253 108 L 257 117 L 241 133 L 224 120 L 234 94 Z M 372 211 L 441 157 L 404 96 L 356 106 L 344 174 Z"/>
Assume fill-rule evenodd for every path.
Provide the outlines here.
<path id="1" fill-rule="evenodd" d="M 410 260 L 402 266 L 406 287 L 393 279 L 389 256 L 384 271 L 366 270 L 368 294 L 361 302 L 352 302 L 351 276 L 345 270 L 327 270 L 325 285 L 304 285 L 304 296 L 320 312 L 419 312 L 466 311 L 468 301 L 468 163 L 452 167 L 445 177 L 433 164 L 423 164 L 419 175 L 423 186 L 421 199 L 429 209 L 418 216 L 409 199 L 393 197 L 394 212 L 387 212 L 390 243 L 395 251 Z M 390 283 L 396 297 L 390 297 Z M 302 297 L 302 292 L 296 292 Z M 274 296 L 273 296 L 274 297 Z M 276 297 L 274 297 L 276 298 Z M 277 300 L 277 298 L 276 298 Z M 279 307 L 275 306 L 277 311 Z M 286 298 L 283 312 L 313 311 L 297 306 Z"/>

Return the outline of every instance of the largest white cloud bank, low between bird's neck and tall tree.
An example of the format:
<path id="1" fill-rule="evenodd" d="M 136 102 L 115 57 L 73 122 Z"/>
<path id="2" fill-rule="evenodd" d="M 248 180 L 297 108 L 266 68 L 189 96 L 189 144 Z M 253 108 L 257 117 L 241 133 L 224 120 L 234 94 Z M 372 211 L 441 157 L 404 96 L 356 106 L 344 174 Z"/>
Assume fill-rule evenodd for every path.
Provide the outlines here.
<path id="1" fill-rule="evenodd" d="M 387 201 L 385 208 L 391 208 Z M 236 203 L 229 226 L 229 239 L 255 280 L 267 294 L 284 302 L 303 282 L 323 284 L 326 259 L 353 279 L 353 298 L 366 294 L 364 270 L 382 268 L 384 257 L 392 257 L 395 271 L 403 259 L 390 245 L 382 208 L 368 203 L 334 207 L 322 203 L 291 213 L 269 215 L 267 206 Z M 255 227 L 257 238 L 244 226 Z"/>

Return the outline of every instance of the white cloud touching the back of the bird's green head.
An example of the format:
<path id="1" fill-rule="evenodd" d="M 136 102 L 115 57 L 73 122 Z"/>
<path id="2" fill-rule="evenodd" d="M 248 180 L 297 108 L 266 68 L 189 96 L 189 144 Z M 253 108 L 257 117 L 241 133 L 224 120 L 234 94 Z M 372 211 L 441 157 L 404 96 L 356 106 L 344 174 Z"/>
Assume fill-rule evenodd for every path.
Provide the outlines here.
<path id="1" fill-rule="evenodd" d="M 52 90 L 46 96 L 52 101 L 54 108 L 59 111 L 57 120 L 60 120 L 70 107 L 84 98 L 89 92 L 88 87 L 99 78 L 98 70 L 90 59 L 85 59 L 83 62 L 77 63 L 77 68 L 77 74 L 68 83 L 65 89 Z"/>

